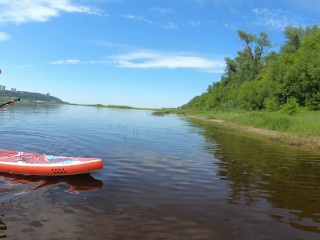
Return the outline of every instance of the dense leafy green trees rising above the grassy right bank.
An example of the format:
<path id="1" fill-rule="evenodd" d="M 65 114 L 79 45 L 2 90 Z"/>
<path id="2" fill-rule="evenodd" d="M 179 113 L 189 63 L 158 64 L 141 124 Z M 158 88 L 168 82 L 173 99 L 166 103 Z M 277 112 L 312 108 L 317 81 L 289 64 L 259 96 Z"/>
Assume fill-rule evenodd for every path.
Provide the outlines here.
<path id="1" fill-rule="evenodd" d="M 284 35 L 285 43 L 277 53 L 269 50 L 268 34 L 239 30 L 244 49 L 234 59 L 225 58 L 221 80 L 181 108 L 320 110 L 320 29 L 289 26 Z"/>

